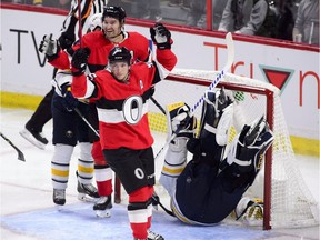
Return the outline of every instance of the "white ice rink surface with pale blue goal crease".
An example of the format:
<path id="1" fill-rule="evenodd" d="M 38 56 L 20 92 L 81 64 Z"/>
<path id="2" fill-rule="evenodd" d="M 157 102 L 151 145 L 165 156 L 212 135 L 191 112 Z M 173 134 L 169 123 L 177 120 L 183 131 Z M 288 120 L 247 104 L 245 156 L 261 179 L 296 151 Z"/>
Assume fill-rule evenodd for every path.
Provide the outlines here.
<path id="1" fill-rule="evenodd" d="M 53 146 L 49 142 L 46 150 L 40 150 L 19 134 L 19 131 L 23 129 L 32 112 L 24 109 L 1 109 L 1 132 L 24 153 L 26 162 L 18 160 L 17 151 L 1 138 L 0 239 L 132 239 L 126 203 L 113 204 L 111 218 L 99 219 L 92 210 L 93 203 L 81 202 L 77 199 L 77 179 L 74 174 L 78 157 L 77 148 L 74 149 L 70 167 L 67 203 L 62 209 L 54 207 L 50 180 L 50 161 L 53 154 Z M 43 130 L 48 140 L 51 140 L 51 131 L 50 121 Z M 154 152 L 158 152 L 158 150 L 154 149 Z M 307 186 L 314 198 L 319 200 L 319 159 L 304 156 L 298 156 L 297 158 L 299 159 L 299 167 Z M 161 164 L 161 162 L 157 163 Z M 157 169 L 159 169 L 159 166 Z M 159 170 L 157 174 L 159 176 Z M 166 200 L 164 196 L 163 198 Z M 263 231 L 262 228 L 257 227 L 243 227 L 232 222 L 222 222 L 216 227 L 194 227 L 181 223 L 179 220 L 164 213 L 161 209 L 153 211 L 151 230 L 162 234 L 166 240 L 320 239 L 319 226 L 300 229 L 276 229 L 271 231 Z"/>

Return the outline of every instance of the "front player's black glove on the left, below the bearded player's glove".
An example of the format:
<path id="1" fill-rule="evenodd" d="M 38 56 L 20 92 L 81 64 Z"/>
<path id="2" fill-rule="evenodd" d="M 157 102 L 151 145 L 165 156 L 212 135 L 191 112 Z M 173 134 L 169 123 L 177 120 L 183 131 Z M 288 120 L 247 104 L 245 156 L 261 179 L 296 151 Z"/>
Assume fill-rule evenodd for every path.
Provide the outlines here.
<path id="1" fill-rule="evenodd" d="M 89 48 L 80 48 L 73 53 L 71 60 L 72 76 L 81 76 L 82 73 L 84 73 L 90 52 L 91 51 Z"/>

